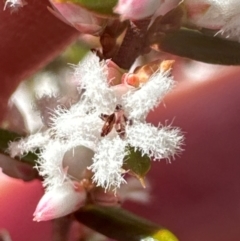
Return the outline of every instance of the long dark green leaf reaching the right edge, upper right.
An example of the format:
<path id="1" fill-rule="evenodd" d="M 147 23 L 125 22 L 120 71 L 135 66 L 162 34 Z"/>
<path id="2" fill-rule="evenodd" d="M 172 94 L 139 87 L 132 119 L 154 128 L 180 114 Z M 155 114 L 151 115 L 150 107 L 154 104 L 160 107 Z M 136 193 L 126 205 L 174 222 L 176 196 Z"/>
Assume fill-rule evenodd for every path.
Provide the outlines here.
<path id="1" fill-rule="evenodd" d="M 154 49 L 211 64 L 240 65 L 240 43 L 182 28 L 151 36 Z"/>

